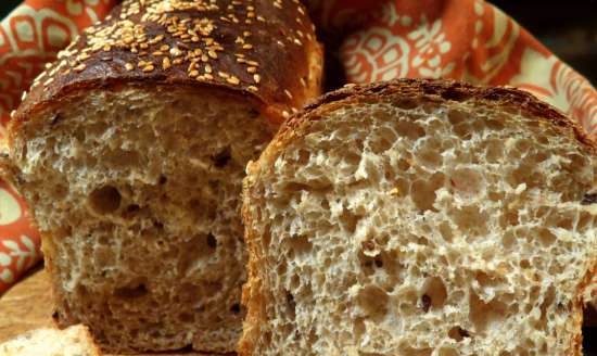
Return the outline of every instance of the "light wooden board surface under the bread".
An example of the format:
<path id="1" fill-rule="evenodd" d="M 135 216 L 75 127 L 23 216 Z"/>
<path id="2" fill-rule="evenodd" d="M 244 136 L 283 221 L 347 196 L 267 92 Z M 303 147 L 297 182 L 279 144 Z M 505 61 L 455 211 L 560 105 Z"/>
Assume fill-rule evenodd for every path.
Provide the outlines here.
<path id="1" fill-rule="evenodd" d="M 0 296 L 0 343 L 28 330 L 54 327 L 51 313 L 51 288 L 48 275 L 39 267 Z M 585 314 L 585 353 L 597 356 L 597 314 Z M 196 353 L 144 354 L 138 356 L 206 356 Z M 110 356 L 110 355 L 105 355 Z M 112 355 L 117 356 L 117 355 Z"/>

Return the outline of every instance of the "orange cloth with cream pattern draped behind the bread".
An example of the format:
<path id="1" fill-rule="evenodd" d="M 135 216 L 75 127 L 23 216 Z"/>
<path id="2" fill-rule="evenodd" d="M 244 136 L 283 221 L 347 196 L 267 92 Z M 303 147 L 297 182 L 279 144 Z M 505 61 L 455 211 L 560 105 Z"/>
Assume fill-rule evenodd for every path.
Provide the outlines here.
<path id="1" fill-rule="evenodd" d="M 1 23 L 1 123 L 45 63 L 114 3 L 26 0 Z M 312 0 L 309 5 L 326 33 L 345 34 L 340 54 L 348 81 L 444 77 L 510 85 L 559 107 L 597 137 L 597 91 L 483 0 Z M 2 132 L 0 125 L 0 140 Z M 24 203 L 0 181 L 0 293 L 39 258 L 39 236 Z"/>

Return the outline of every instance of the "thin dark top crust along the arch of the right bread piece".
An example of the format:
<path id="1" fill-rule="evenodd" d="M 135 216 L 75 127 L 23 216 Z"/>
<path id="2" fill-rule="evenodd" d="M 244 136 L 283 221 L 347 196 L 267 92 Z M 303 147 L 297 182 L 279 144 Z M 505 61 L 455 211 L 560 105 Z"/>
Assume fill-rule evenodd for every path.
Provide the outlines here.
<path id="1" fill-rule="evenodd" d="M 431 101 L 447 102 L 447 104 L 449 101 L 472 100 L 487 106 L 498 106 L 505 112 L 520 112 L 528 117 L 550 122 L 559 127 L 562 134 L 573 135 L 579 141 L 590 147 L 594 153 L 597 153 L 597 142 L 588 137 L 580 124 L 529 92 L 512 87 L 483 87 L 444 79 L 403 78 L 364 86 L 344 86 L 344 88 L 318 98 L 302 113 L 293 115 L 281 127 L 275 140 L 279 141 L 283 137 L 296 134 L 304 124 L 320 119 L 325 113 L 341 106 L 374 100 L 388 101 L 397 98 L 408 100 L 422 97 L 427 97 Z"/>

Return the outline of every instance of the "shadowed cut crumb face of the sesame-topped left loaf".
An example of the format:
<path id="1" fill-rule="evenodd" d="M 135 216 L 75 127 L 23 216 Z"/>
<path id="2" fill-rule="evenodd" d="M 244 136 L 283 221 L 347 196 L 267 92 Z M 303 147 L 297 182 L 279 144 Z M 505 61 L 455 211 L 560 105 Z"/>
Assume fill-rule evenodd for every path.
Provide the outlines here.
<path id="1" fill-rule="evenodd" d="M 241 180 L 271 138 L 258 107 L 215 89 L 125 85 L 38 115 L 13 161 L 59 323 L 90 326 L 107 349 L 233 349 Z"/>

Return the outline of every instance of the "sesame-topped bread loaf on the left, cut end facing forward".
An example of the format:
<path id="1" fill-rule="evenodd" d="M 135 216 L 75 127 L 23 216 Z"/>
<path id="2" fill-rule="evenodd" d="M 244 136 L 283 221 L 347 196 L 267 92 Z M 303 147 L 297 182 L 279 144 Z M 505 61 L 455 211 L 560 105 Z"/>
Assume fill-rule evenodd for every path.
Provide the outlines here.
<path id="1" fill-rule="evenodd" d="M 320 72 L 290 0 L 127 0 L 60 53 L 9 128 L 59 325 L 111 352 L 232 351 L 244 167 Z"/>

